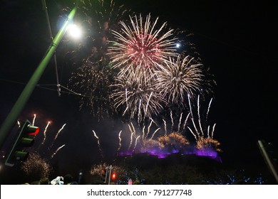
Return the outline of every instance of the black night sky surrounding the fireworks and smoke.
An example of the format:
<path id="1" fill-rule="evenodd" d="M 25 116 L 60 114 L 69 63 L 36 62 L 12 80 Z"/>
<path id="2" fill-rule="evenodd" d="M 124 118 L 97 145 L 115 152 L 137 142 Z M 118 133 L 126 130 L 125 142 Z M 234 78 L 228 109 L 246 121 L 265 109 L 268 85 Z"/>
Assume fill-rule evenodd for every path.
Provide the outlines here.
<path id="1" fill-rule="evenodd" d="M 72 6 L 65 2 L 46 1 L 54 36 L 61 9 Z M 170 26 L 193 33 L 191 39 L 202 63 L 210 68 L 217 82 L 210 116 L 217 124 L 215 139 L 221 143 L 223 161 L 238 166 L 264 165 L 257 140 L 278 144 L 277 2 L 120 2 L 136 13 L 159 16 Z M 49 45 L 41 1 L 2 1 L 1 4 L 0 124 Z M 58 48 L 57 54 L 59 52 Z M 58 55 L 59 78 L 61 85 L 66 86 L 68 68 L 62 58 L 62 55 Z M 56 85 L 53 61 L 39 84 Z M 109 153 L 109 149 L 115 149 L 121 128 L 117 127 L 117 122 L 107 119 L 97 123 L 88 111 L 79 111 L 78 98 L 64 93 L 58 97 L 55 86 L 48 88 L 53 90 L 36 87 L 19 118 L 31 120 L 36 113 L 37 123 L 41 124 L 42 129 L 51 120 L 53 123 L 49 131 L 52 134 L 56 134 L 66 123 L 55 147 L 66 146 L 56 154 L 54 163 L 59 166 L 76 163 L 82 167 L 100 158 L 92 129 L 101 138 L 106 153 Z M 111 143 L 110 140 L 116 141 Z M 51 154 L 47 150 L 43 154 Z"/>

